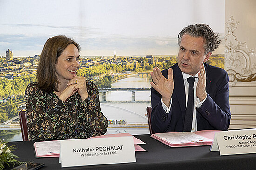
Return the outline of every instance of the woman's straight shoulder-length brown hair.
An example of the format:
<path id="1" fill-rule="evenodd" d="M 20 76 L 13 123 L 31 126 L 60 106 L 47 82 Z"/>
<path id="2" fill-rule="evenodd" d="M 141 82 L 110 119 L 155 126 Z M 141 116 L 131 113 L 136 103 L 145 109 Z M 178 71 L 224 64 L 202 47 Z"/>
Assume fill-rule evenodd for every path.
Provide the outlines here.
<path id="1" fill-rule="evenodd" d="M 45 42 L 36 73 L 37 85 L 42 90 L 46 92 L 51 92 L 52 90 L 58 91 L 59 82 L 56 76 L 55 66 L 58 57 L 70 44 L 74 44 L 78 51 L 80 51 L 79 44 L 64 35 L 54 36 Z"/>

